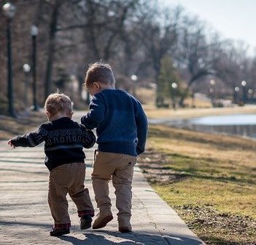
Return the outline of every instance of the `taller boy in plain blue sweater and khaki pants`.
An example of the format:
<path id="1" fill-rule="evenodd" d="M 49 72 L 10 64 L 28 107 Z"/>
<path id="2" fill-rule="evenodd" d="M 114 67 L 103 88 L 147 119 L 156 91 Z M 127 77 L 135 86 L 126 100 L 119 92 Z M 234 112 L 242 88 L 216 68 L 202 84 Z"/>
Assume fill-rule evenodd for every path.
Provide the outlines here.
<path id="1" fill-rule="evenodd" d="M 90 65 L 85 87 L 93 96 L 90 111 L 81 123 L 96 128 L 98 149 L 93 165 L 93 190 L 99 213 L 93 229 L 103 228 L 113 219 L 109 180 L 115 188 L 120 232 L 131 232 L 131 184 L 136 158 L 144 152 L 147 117 L 136 98 L 115 89 L 112 68 L 106 63 Z"/>

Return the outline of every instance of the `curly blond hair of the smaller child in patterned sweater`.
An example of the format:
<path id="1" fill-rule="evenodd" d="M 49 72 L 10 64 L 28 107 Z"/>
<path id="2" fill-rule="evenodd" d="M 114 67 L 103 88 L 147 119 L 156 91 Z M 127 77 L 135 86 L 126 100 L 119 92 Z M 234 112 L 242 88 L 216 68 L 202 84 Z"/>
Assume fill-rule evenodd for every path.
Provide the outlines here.
<path id="1" fill-rule="evenodd" d="M 55 92 L 47 97 L 44 103 L 45 111 L 50 113 L 50 116 L 54 116 L 59 111 L 66 111 L 71 113 L 73 111 L 72 101 L 69 96 Z"/>

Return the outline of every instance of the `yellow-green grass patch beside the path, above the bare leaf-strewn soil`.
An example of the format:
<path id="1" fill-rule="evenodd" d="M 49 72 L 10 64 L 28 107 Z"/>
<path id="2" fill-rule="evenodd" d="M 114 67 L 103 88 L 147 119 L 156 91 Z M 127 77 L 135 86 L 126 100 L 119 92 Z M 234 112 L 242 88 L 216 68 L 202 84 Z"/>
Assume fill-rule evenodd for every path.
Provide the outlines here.
<path id="1" fill-rule="evenodd" d="M 212 206 L 219 212 L 256 219 L 255 187 L 251 185 L 187 177 L 169 185 L 152 186 L 170 206 Z"/>

